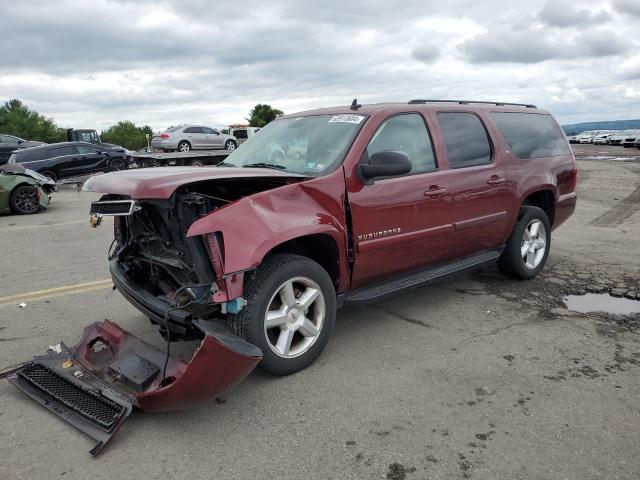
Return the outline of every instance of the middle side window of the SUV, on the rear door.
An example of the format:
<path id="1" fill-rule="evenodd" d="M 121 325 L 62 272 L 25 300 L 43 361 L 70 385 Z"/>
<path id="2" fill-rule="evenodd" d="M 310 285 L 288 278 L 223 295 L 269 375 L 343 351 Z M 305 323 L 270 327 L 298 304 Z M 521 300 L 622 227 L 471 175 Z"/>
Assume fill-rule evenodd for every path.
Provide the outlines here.
<path id="1" fill-rule="evenodd" d="M 436 117 L 447 145 L 451 168 L 491 163 L 491 144 L 480 118 L 467 112 L 439 112 Z"/>

